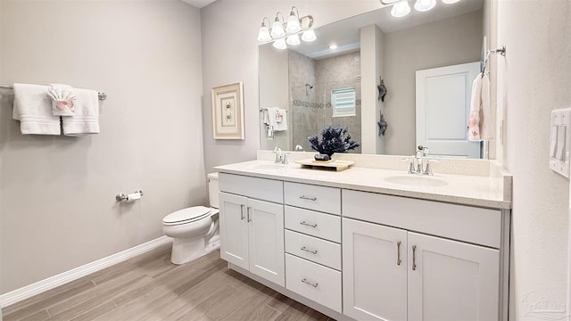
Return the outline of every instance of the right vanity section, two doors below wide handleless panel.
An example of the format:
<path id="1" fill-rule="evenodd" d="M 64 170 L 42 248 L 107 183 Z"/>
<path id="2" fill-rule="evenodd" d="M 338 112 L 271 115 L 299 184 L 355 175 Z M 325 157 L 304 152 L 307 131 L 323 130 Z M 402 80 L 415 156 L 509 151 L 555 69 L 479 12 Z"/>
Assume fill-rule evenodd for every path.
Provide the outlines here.
<path id="1" fill-rule="evenodd" d="M 501 211 L 343 190 L 343 314 L 499 320 Z"/>

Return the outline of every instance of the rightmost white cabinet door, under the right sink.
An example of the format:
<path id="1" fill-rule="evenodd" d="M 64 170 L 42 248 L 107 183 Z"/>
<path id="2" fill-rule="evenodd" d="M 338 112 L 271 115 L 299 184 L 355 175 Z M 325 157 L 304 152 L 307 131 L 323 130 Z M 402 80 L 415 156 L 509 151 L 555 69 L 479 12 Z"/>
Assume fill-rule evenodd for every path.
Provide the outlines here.
<path id="1" fill-rule="evenodd" d="M 498 320 L 498 250 L 412 232 L 408 239 L 410 320 Z"/>

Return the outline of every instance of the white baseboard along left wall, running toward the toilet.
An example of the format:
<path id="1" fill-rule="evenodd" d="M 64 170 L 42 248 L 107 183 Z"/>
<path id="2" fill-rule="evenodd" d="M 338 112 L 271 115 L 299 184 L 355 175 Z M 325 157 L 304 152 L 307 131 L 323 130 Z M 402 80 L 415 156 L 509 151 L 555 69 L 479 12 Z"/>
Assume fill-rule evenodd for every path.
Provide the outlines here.
<path id="1" fill-rule="evenodd" d="M 87 263 L 84 266 L 70 269 L 69 271 L 63 272 L 57 276 L 51 276 L 34 284 L 29 284 L 21 287 L 20 289 L 16 289 L 12 292 L 4 293 L 0 295 L 0 308 L 7 307 L 21 300 L 26 300 L 36 294 L 54 289 L 57 286 L 77 280 L 79 277 L 87 276 L 103 268 L 111 267 L 114 264 L 131 259 L 147 251 L 152 251 L 161 245 L 170 242 L 172 242 L 172 238 L 169 236 L 161 236 L 147 243 L 139 244 L 125 251 L 112 254 L 106 258 L 97 259 L 96 261 Z"/>

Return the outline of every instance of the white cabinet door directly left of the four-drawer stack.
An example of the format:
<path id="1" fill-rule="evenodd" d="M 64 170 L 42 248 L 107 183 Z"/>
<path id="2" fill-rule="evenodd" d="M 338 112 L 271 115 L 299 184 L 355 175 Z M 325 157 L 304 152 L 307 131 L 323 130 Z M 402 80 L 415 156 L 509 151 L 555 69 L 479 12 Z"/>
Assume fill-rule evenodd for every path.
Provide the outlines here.
<path id="1" fill-rule="evenodd" d="M 284 206 L 248 200 L 250 272 L 285 286 Z"/>

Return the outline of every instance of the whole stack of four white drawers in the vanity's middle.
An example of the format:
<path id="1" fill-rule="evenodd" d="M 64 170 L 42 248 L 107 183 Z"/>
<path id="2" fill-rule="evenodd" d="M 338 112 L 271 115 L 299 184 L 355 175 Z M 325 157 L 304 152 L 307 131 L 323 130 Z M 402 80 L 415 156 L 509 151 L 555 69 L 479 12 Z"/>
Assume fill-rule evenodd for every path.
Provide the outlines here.
<path id="1" fill-rule="evenodd" d="M 341 189 L 284 183 L 285 288 L 342 312 Z"/>

